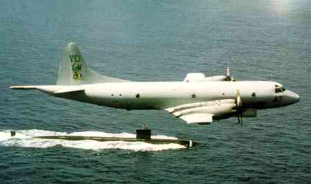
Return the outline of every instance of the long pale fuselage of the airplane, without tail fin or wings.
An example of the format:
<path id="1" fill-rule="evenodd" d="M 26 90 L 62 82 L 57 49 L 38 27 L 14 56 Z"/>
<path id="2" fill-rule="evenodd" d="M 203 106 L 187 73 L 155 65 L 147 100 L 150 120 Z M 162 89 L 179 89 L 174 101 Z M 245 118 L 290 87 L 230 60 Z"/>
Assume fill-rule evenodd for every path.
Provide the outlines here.
<path id="1" fill-rule="evenodd" d="M 285 90 L 275 93 L 276 82 L 124 82 L 70 86 L 84 89 L 84 98 L 77 95 L 54 94 L 68 86 L 46 86 L 51 95 L 89 102 L 117 109 L 167 109 L 182 104 L 235 99 L 240 91 L 243 107 L 268 109 L 299 101 L 299 95 Z M 281 84 L 279 84 L 281 85 Z M 42 91 L 50 92 L 42 86 Z M 278 100 L 274 100 L 278 98 Z"/>

